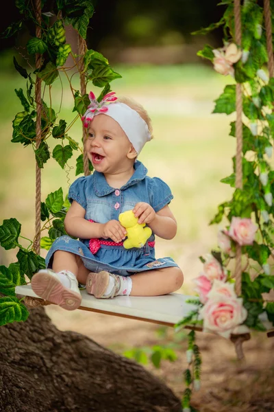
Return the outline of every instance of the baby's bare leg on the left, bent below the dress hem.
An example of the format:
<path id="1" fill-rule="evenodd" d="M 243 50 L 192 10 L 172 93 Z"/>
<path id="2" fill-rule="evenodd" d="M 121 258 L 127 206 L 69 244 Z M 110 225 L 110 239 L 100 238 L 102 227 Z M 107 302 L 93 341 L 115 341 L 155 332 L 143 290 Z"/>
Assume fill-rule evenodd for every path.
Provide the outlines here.
<path id="1" fill-rule="evenodd" d="M 81 284 L 86 284 L 86 278 L 90 273 L 78 255 L 66 251 L 55 251 L 52 269 L 55 273 L 71 271 Z"/>

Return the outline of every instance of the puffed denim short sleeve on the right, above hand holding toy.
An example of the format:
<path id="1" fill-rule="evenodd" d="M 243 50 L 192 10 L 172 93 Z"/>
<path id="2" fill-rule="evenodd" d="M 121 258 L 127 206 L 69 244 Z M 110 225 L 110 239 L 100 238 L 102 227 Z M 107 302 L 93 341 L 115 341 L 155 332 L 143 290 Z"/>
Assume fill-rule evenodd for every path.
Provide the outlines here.
<path id="1" fill-rule="evenodd" d="M 153 177 L 149 182 L 149 198 L 151 206 L 158 212 L 164 206 L 169 205 L 173 199 L 171 189 L 162 179 Z"/>

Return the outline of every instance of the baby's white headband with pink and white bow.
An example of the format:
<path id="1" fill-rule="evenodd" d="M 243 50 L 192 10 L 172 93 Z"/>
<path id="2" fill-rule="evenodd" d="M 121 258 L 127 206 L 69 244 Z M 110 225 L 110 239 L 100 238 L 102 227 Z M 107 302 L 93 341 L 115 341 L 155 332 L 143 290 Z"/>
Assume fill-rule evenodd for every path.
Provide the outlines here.
<path id="1" fill-rule="evenodd" d="M 109 96 L 106 98 L 106 96 Z M 112 95 L 112 96 L 111 96 Z M 88 127 L 88 122 L 90 122 L 94 116 L 104 114 L 112 117 L 123 129 L 130 143 L 139 154 L 142 148 L 145 146 L 147 141 L 151 140 L 151 134 L 149 133 L 149 128 L 147 123 L 142 117 L 132 108 L 127 106 L 127 104 L 121 102 L 114 102 L 114 93 L 108 93 L 103 98 L 102 102 L 98 103 L 95 100 L 95 95 L 90 92 L 89 98 L 91 104 L 88 106 L 88 110 L 82 117 L 84 121 L 84 126 Z M 108 104 L 106 104 L 108 102 Z"/>

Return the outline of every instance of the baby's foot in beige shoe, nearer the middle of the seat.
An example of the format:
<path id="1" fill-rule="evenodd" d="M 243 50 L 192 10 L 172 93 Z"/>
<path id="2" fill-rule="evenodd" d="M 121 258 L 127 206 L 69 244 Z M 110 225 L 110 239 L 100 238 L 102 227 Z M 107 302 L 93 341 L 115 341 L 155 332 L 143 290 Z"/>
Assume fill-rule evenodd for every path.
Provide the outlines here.
<path id="1" fill-rule="evenodd" d="M 110 278 L 112 278 L 112 282 Z M 110 293 L 106 294 L 110 282 L 113 286 L 110 287 Z M 120 287 L 121 276 L 113 275 L 105 271 L 99 273 L 90 272 L 86 279 L 86 291 L 97 298 L 113 298 L 119 294 Z"/>

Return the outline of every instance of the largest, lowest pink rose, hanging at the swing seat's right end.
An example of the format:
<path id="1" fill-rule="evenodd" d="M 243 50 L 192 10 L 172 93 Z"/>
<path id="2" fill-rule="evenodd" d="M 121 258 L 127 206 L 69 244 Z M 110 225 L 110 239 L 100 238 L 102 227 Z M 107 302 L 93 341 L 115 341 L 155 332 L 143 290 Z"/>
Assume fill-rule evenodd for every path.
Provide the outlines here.
<path id="1" fill-rule="evenodd" d="M 200 310 L 203 332 L 214 332 L 229 339 L 238 325 L 247 319 L 242 298 L 236 299 L 216 293 Z"/>

